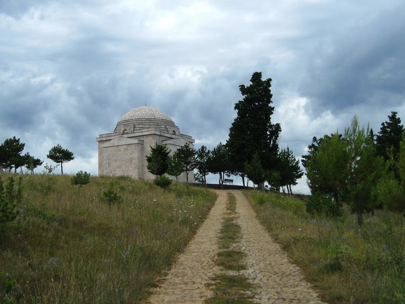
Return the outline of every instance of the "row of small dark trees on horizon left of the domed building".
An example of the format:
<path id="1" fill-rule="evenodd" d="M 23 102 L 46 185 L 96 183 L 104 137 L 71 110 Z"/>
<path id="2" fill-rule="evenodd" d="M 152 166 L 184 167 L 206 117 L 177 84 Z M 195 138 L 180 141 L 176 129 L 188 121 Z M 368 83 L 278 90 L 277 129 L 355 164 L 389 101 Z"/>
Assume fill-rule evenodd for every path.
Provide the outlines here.
<path id="1" fill-rule="evenodd" d="M 29 152 L 22 154 L 25 147 L 25 143 L 20 142 L 20 138 L 7 138 L 0 145 L 0 171 L 14 172 L 20 169 L 22 173 L 22 168 L 25 167 L 27 170 L 34 173 L 34 169 L 41 166 L 44 161 L 35 158 L 29 154 Z M 63 175 L 63 164 L 70 162 L 74 159 L 73 153 L 68 149 L 63 148 L 60 144 L 53 146 L 47 155 L 47 158 L 60 165 L 61 174 Z M 48 168 L 55 169 L 55 167 Z"/>

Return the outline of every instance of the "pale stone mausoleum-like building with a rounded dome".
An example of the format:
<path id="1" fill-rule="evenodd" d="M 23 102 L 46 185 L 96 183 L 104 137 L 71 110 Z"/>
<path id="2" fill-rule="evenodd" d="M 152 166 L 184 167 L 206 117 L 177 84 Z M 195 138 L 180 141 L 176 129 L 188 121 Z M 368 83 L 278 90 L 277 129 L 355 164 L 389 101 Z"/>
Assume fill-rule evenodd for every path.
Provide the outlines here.
<path id="1" fill-rule="evenodd" d="M 130 110 L 118 121 L 113 133 L 100 134 L 96 140 L 99 175 L 130 175 L 149 180 L 154 176 L 146 169 L 146 156 L 156 143 L 166 144 L 171 155 L 186 143 L 194 148 L 191 136 L 181 134 L 164 111 L 151 106 Z M 185 172 L 178 180 L 186 181 Z M 193 172 L 189 172 L 188 182 L 194 182 Z"/>

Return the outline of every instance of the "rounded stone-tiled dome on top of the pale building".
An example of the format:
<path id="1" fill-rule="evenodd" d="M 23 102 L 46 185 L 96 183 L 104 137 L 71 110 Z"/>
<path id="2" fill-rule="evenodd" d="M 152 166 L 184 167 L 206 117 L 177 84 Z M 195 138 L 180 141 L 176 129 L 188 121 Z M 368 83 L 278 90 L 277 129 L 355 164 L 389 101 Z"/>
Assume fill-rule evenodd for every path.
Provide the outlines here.
<path id="1" fill-rule="evenodd" d="M 140 106 L 126 113 L 117 123 L 115 130 L 119 126 L 135 126 L 135 128 L 161 128 L 163 126 L 173 126 L 175 123 L 162 110 L 151 106 Z"/>

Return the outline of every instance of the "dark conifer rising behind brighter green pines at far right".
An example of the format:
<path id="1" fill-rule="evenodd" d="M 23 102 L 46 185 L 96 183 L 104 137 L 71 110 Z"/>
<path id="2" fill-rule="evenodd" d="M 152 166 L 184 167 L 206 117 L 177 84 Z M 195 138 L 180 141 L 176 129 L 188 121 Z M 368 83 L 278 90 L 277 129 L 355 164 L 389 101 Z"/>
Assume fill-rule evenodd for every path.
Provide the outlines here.
<path id="1" fill-rule="evenodd" d="M 392 148 L 392 156 L 397 160 L 399 143 L 402 139 L 403 126 L 397 112 L 392 111 L 388 116 L 388 122 L 381 124 L 381 129 L 376 136 L 376 152 L 385 161 L 390 159 L 389 150 Z"/>

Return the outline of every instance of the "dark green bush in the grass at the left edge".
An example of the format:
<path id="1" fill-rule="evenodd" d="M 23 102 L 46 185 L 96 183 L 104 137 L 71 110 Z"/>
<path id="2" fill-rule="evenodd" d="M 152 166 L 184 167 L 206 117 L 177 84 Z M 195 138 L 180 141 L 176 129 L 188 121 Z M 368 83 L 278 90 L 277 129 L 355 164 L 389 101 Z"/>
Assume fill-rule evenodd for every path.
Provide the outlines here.
<path id="1" fill-rule="evenodd" d="M 22 198 L 22 178 L 16 183 L 10 176 L 6 183 L 0 177 L 0 225 L 14 220 L 18 215 L 17 204 Z"/>

